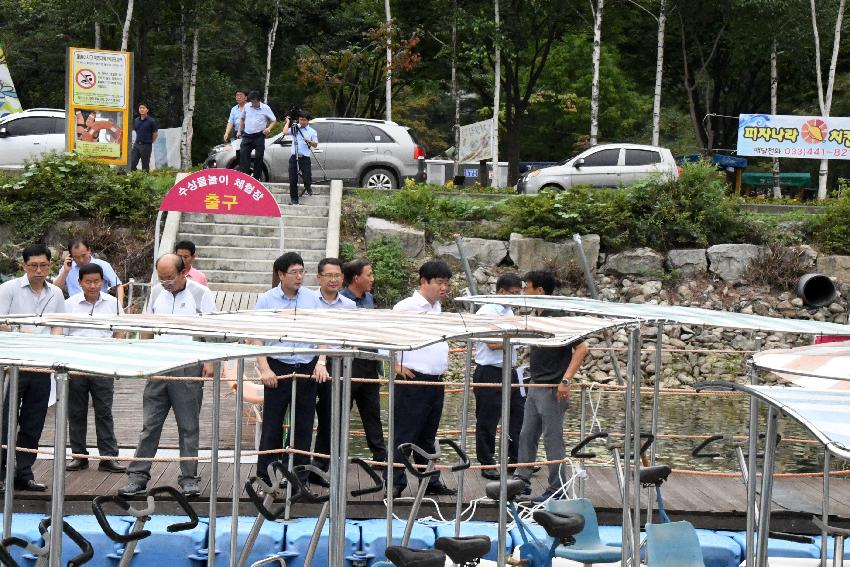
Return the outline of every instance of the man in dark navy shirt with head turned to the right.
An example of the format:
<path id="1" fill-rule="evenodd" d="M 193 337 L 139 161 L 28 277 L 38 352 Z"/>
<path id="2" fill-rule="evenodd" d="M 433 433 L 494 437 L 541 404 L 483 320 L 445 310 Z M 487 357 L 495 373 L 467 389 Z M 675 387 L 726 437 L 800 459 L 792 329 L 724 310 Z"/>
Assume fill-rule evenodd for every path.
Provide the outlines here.
<path id="1" fill-rule="evenodd" d="M 354 301 L 358 309 L 374 309 L 375 298 L 372 296 L 372 284 L 375 283 L 375 273 L 368 260 L 352 260 L 342 267 L 345 278 L 345 288 L 340 292 Z M 377 380 L 378 368 L 381 363 L 377 360 L 355 358 L 351 366 L 351 375 L 355 378 Z M 352 382 L 351 398 L 357 403 L 363 431 L 366 433 L 366 445 L 372 452 L 372 460 L 387 461 L 387 446 L 384 443 L 384 431 L 381 425 L 381 385 L 378 383 Z"/>

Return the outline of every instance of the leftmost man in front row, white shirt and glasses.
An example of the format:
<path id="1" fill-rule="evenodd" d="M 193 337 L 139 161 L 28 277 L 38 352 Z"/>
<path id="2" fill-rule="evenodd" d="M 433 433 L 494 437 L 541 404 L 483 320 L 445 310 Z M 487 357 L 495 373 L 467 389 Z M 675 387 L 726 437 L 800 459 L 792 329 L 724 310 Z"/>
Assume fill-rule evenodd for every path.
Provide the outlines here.
<path id="1" fill-rule="evenodd" d="M 44 315 L 65 313 L 65 297 L 62 290 L 48 283 L 50 275 L 50 250 L 44 244 L 32 244 L 22 252 L 24 275 L 0 285 L 0 315 Z M 9 331 L 7 327 L 3 331 Z M 21 325 L 22 333 L 61 335 L 61 327 L 34 327 Z M 18 437 L 16 447 L 38 449 L 44 418 L 47 416 L 47 401 L 50 398 L 50 374 L 43 372 L 18 371 Z M 9 423 L 9 399 L 3 404 L 3 444 L 7 443 Z M 6 450 L 0 451 L 0 492 L 5 492 Z M 15 490 L 44 492 L 47 486 L 36 482 L 32 473 L 35 453 L 15 452 Z"/>

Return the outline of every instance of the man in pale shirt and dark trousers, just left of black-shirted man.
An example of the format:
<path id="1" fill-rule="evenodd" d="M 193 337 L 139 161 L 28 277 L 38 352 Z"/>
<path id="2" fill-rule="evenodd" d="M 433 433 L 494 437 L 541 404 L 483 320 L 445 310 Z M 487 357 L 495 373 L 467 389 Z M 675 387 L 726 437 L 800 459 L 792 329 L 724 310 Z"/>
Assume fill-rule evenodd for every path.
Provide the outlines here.
<path id="1" fill-rule="evenodd" d="M 522 279 L 518 274 L 509 272 L 496 280 L 496 293 L 499 295 L 519 295 L 522 293 Z M 495 303 L 482 305 L 478 315 L 496 315 L 510 317 L 513 309 L 507 305 Z M 475 373 L 472 381 L 476 384 L 502 383 L 502 342 L 478 341 L 475 345 Z M 516 347 L 511 349 L 511 384 L 518 384 L 516 370 Z M 522 412 L 525 399 L 519 388 L 511 388 L 511 419 L 508 426 L 508 461 L 517 462 L 519 451 L 519 432 L 522 430 Z M 475 456 L 482 465 L 496 464 L 496 427 L 502 417 L 502 389 L 475 388 Z M 482 469 L 481 476 L 489 480 L 498 480 L 495 469 Z"/>

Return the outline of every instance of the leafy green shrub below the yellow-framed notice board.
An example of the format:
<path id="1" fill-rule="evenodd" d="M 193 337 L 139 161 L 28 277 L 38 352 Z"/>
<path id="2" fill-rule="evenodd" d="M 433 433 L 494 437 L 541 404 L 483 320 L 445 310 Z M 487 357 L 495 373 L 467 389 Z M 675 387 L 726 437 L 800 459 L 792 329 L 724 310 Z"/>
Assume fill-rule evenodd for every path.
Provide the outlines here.
<path id="1" fill-rule="evenodd" d="M 95 218 L 134 228 L 150 225 L 173 178 L 134 172 L 72 154 L 52 154 L 0 185 L 0 222 L 20 240 L 40 240 L 60 220 Z"/>

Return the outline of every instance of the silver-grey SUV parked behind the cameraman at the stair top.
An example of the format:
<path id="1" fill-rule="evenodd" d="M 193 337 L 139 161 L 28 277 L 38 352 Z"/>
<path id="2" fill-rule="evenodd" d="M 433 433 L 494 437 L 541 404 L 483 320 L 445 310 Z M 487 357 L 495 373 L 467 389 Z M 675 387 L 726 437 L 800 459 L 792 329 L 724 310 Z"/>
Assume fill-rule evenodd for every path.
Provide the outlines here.
<path id="1" fill-rule="evenodd" d="M 314 118 L 310 126 L 319 137 L 319 146 L 310 156 L 314 182 L 341 179 L 347 185 L 396 189 L 405 179 L 419 175 L 419 158 L 425 157 L 425 150 L 410 128 L 368 118 Z M 289 132 L 266 139 L 263 181 L 289 181 L 291 149 Z M 208 168 L 235 169 L 238 165 L 231 144 L 214 147 L 204 163 Z"/>

